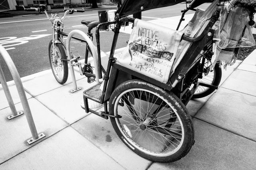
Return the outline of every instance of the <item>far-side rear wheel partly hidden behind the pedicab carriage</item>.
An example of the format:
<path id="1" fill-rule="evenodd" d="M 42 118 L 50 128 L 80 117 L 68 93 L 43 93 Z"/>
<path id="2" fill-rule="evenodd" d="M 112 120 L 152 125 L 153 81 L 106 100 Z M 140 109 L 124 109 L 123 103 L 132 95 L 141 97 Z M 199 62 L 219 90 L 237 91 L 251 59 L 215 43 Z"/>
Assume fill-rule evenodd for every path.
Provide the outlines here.
<path id="1" fill-rule="evenodd" d="M 210 62 L 206 60 L 205 64 L 208 64 L 208 63 L 210 63 Z M 216 63 L 213 68 L 213 71 L 209 72 L 208 75 L 204 75 L 204 73 L 203 73 L 203 78 L 198 79 L 198 82 L 203 82 L 203 83 L 207 83 L 207 84 L 212 84 L 214 86 L 219 86 L 221 76 L 222 76 L 222 70 L 220 68 L 220 64 Z M 214 91 L 215 91 L 215 89 L 213 89 L 213 88 L 198 86 L 194 95 L 192 96 L 192 99 L 203 98 L 205 96 L 210 95 Z"/>

